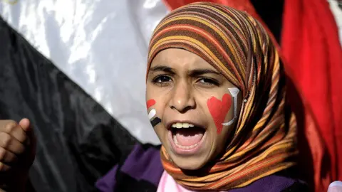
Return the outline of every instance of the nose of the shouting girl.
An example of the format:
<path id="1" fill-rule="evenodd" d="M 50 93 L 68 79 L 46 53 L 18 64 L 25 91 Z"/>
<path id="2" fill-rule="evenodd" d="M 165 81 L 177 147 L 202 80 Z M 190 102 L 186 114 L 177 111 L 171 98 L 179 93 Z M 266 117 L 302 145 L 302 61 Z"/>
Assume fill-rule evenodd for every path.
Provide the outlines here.
<path id="1" fill-rule="evenodd" d="M 172 110 L 185 113 L 195 109 L 196 102 L 191 87 L 186 82 L 179 82 L 173 87 L 169 106 Z"/>

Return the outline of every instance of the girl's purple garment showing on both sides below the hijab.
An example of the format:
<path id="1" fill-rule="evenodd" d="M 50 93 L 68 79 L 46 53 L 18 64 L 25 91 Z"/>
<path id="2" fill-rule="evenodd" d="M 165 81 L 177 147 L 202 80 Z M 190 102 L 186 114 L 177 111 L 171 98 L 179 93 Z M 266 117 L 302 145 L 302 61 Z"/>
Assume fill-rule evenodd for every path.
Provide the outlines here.
<path id="1" fill-rule="evenodd" d="M 126 159 L 120 169 L 123 173 L 128 174 L 137 181 L 148 181 L 156 188 L 164 171 L 160 160 L 160 151 L 154 147 L 144 149 L 141 145 L 135 146 L 131 154 Z M 115 175 L 118 166 L 114 166 L 108 174 L 100 178 L 96 182 L 96 187 L 102 192 L 113 192 L 115 189 Z M 245 191 L 282 191 L 293 185 L 296 181 L 294 178 L 285 176 L 266 176 L 254 181 L 244 188 L 232 189 L 229 192 L 245 192 Z"/>

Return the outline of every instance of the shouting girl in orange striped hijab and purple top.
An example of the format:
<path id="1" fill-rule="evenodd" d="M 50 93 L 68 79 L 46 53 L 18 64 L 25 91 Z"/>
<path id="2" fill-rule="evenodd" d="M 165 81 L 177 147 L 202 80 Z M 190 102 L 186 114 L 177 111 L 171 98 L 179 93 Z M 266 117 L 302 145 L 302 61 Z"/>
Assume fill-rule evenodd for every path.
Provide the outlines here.
<path id="1" fill-rule="evenodd" d="M 281 60 L 246 13 L 197 3 L 166 16 L 150 41 L 146 100 L 161 149 L 136 146 L 100 191 L 306 191 Z"/>

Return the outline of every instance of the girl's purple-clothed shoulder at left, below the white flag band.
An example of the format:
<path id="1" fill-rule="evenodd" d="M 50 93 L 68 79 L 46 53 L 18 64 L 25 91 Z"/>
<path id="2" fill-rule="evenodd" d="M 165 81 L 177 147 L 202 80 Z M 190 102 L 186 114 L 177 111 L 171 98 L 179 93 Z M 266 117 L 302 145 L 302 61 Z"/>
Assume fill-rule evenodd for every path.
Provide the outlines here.
<path id="1" fill-rule="evenodd" d="M 162 176 L 160 146 L 137 144 L 126 159 L 96 182 L 99 191 L 157 191 Z"/>

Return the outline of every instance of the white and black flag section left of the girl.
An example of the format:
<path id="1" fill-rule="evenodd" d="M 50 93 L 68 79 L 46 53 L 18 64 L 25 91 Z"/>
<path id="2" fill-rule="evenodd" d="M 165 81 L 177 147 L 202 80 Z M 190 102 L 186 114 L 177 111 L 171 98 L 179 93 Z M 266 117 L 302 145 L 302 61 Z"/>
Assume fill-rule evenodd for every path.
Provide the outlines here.
<path id="1" fill-rule="evenodd" d="M 158 144 L 145 57 L 167 9 L 137 2 L 0 1 L 0 119 L 33 122 L 36 191 L 96 191 L 134 144 Z"/>

